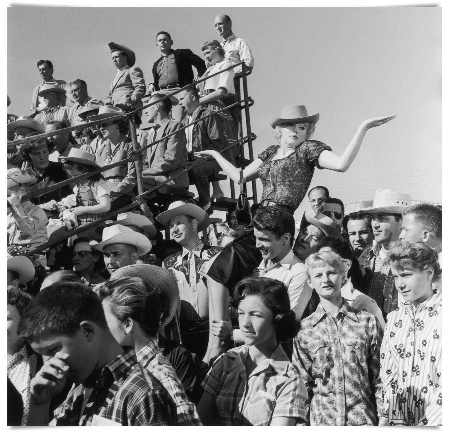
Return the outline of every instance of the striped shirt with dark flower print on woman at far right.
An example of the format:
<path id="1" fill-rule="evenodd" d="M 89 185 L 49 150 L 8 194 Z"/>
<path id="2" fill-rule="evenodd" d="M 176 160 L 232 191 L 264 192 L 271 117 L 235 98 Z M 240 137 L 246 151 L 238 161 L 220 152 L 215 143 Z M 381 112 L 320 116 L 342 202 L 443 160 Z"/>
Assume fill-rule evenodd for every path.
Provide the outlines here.
<path id="1" fill-rule="evenodd" d="M 441 425 L 441 292 L 388 315 L 381 349 L 383 400 L 390 425 Z"/>

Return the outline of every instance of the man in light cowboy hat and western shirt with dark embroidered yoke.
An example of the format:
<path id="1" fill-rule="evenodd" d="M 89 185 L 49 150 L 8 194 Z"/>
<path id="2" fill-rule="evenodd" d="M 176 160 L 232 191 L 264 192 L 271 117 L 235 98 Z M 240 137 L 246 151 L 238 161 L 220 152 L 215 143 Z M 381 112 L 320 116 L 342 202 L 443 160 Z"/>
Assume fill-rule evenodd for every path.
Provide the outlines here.
<path id="1" fill-rule="evenodd" d="M 156 219 L 170 229 L 171 237 L 182 246 L 180 252 L 165 258 L 163 268 L 174 275 L 178 284 L 182 342 L 202 359 L 209 339 L 209 296 L 199 269 L 221 248 L 204 244 L 198 238 L 198 232 L 207 229 L 209 216 L 195 204 L 173 202 Z"/>

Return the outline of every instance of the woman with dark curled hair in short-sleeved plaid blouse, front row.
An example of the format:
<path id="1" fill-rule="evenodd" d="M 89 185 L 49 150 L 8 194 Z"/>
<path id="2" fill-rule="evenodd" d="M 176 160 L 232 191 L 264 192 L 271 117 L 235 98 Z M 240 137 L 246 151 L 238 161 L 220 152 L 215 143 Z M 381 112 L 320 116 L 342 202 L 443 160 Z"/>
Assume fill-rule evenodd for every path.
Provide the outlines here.
<path id="1" fill-rule="evenodd" d="M 295 425 L 304 422 L 307 392 L 281 341 L 298 323 L 284 283 L 244 278 L 230 298 L 245 345 L 223 353 L 202 386 L 198 414 L 205 425 Z"/>

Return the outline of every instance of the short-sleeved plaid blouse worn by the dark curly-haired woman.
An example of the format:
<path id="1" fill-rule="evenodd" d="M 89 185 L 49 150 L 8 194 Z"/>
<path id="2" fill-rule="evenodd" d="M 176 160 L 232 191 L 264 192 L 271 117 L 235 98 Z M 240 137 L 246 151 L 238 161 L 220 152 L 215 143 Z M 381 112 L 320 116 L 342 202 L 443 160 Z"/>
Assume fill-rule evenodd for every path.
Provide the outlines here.
<path id="1" fill-rule="evenodd" d="M 269 425 L 272 418 L 305 420 L 307 391 L 298 370 L 281 345 L 249 376 L 245 367 L 248 345 L 223 353 L 202 383 L 215 397 L 219 425 Z"/>

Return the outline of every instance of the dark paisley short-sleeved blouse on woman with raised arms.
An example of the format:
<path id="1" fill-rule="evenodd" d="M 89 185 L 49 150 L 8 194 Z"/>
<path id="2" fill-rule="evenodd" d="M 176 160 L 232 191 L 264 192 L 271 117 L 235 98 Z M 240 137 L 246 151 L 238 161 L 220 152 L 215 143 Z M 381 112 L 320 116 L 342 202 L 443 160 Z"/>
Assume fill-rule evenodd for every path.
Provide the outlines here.
<path id="1" fill-rule="evenodd" d="M 269 200 L 294 210 L 304 199 L 315 167 L 322 169 L 318 158 L 323 150 L 332 149 L 321 141 L 303 141 L 285 158 L 271 159 L 281 146 L 269 146 L 258 158 L 263 161 L 257 172 L 264 186 L 261 202 Z"/>

